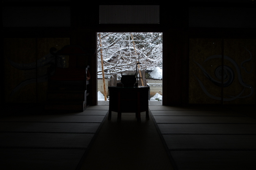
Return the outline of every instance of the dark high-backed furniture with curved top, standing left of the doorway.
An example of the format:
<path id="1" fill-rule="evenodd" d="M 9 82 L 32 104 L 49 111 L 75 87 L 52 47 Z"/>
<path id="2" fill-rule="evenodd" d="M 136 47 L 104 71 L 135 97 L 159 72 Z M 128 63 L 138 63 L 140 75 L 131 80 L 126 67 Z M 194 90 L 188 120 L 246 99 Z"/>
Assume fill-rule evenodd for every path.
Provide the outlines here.
<path id="1" fill-rule="evenodd" d="M 95 49 L 84 50 L 78 45 L 66 45 L 54 51 L 55 48 L 50 49 L 55 57 L 55 67 L 49 71 L 48 103 L 45 109 L 84 111 L 89 106 L 87 98 L 91 77 L 86 62 L 95 53 Z M 67 68 L 57 67 L 60 56 L 69 56 Z"/>

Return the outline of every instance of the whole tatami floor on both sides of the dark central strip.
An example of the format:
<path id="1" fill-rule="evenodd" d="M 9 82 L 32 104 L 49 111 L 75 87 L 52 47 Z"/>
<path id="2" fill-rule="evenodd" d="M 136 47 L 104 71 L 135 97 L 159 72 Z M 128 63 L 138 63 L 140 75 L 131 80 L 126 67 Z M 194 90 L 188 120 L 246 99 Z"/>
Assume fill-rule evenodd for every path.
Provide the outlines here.
<path id="1" fill-rule="evenodd" d="M 178 170 L 255 169 L 255 107 L 149 106 Z M 0 119 L 1 169 L 76 170 L 108 105 Z"/>

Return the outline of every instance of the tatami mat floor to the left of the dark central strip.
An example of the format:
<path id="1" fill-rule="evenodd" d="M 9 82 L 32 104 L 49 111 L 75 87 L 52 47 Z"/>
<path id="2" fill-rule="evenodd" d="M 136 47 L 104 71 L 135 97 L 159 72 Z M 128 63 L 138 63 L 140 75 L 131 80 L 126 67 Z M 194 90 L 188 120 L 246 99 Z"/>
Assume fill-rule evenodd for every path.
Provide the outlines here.
<path id="1" fill-rule="evenodd" d="M 90 106 L 0 118 L 0 169 L 75 170 L 107 112 L 108 106 Z"/>

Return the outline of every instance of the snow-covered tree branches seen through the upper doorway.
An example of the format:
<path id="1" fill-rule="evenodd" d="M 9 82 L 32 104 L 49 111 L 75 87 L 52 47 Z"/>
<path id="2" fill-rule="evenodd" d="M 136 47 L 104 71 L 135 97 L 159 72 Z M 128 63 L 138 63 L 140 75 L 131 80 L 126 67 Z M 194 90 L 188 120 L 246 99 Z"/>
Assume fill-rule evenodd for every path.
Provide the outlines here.
<path id="1" fill-rule="evenodd" d="M 162 33 L 98 33 L 98 75 L 162 69 Z"/>

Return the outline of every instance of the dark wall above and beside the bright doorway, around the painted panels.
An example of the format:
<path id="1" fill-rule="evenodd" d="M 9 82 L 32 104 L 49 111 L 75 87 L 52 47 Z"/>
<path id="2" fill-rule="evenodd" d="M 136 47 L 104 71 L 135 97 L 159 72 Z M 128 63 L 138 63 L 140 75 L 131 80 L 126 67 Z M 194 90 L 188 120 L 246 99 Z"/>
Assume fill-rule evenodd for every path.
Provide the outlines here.
<path id="1" fill-rule="evenodd" d="M 96 48 L 97 32 L 163 32 L 163 105 L 188 105 L 189 39 L 256 38 L 255 5 L 223 1 L 214 4 L 187 1 L 176 5 L 158 2 L 158 5 L 159 24 L 99 24 L 98 3 L 33 1 L 14 4 L 5 1 L 2 2 L 2 42 L 4 38 L 70 38 L 71 44 Z M 2 46 L 2 56 L 5 50 Z M 18 49 L 13 46 L 12 50 Z M 93 56 L 91 75 L 97 74 L 96 63 L 96 56 Z M 4 63 L 2 66 L 1 97 L 5 99 L 8 84 L 3 82 L 7 73 Z M 94 105 L 97 104 L 96 85 L 95 79 L 92 82 L 95 89 L 91 92 Z"/>

